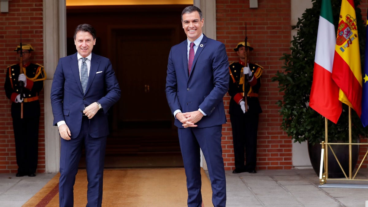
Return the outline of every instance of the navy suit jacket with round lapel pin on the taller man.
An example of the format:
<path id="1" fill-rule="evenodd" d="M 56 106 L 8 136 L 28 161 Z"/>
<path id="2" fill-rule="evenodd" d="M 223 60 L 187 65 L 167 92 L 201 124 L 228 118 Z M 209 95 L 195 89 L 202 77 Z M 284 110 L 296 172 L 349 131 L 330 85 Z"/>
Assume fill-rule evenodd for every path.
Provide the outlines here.
<path id="1" fill-rule="evenodd" d="M 174 45 L 169 54 L 166 76 L 166 98 L 171 113 L 192 112 L 199 108 L 206 116 L 199 128 L 226 123 L 223 97 L 229 89 L 229 62 L 225 45 L 205 35 L 194 56 L 188 75 L 187 40 Z M 184 128 L 175 119 L 175 126 Z"/>

